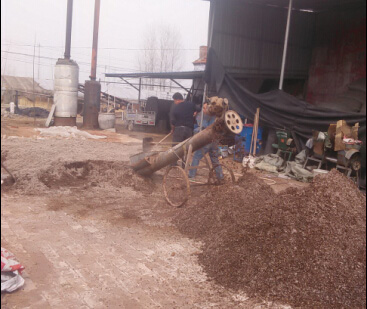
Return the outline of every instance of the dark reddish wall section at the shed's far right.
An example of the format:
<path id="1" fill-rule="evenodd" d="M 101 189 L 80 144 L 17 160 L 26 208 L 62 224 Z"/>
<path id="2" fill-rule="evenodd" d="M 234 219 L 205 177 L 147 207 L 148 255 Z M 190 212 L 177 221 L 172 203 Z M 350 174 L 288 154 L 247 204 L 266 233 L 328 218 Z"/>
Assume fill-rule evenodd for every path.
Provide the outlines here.
<path id="1" fill-rule="evenodd" d="M 307 100 L 327 102 L 366 78 L 366 10 L 320 13 L 310 67 Z"/>

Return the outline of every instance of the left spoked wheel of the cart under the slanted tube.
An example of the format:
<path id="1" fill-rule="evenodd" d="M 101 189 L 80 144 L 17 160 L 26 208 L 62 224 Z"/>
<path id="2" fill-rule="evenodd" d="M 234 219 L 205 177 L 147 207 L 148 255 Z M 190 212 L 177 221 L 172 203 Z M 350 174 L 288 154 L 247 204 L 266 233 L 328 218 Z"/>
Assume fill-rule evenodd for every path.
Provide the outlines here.
<path id="1" fill-rule="evenodd" d="M 173 207 L 182 207 L 191 195 L 190 181 L 184 169 L 179 166 L 170 166 L 163 178 L 163 192 L 168 204 Z"/>

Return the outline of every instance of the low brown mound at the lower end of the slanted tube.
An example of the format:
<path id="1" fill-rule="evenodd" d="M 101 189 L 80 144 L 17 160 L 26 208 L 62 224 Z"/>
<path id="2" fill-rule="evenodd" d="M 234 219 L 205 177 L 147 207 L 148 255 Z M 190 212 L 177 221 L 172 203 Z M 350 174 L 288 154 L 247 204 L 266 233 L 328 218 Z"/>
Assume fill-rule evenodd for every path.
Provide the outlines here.
<path id="1" fill-rule="evenodd" d="M 89 189 L 93 187 L 118 190 L 130 187 L 135 191 L 151 193 L 154 183 L 136 175 L 127 163 L 113 161 L 55 162 L 31 177 L 17 179 L 15 190 L 28 194 L 63 189 Z"/>

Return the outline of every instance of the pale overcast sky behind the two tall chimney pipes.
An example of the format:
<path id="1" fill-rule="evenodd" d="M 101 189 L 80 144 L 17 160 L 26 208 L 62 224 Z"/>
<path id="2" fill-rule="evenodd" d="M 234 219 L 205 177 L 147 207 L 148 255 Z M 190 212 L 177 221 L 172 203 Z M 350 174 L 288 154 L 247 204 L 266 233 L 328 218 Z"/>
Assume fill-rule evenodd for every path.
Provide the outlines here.
<path id="1" fill-rule="evenodd" d="M 1 74 L 33 75 L 52 87 L 53 67 L 63 57 L 67 0 L 1 0 Z M 181 35 L 183 70 L 192 70 L 199 46 L 207 44 L 209 2 L 202 0 L 101 0 L 97 78 L 103 73 L 139 70 L 144 34 L 155 26 L 175 28 Z M 80 81 L 89 78 L 94 0 L 74 0 L 72 59 Z M 40 46 L 40 47 L 39 47 Z M 103 86 L 105 89 L 105 86 Z M 110 85 L 112 94 L 136 93 Z"/>

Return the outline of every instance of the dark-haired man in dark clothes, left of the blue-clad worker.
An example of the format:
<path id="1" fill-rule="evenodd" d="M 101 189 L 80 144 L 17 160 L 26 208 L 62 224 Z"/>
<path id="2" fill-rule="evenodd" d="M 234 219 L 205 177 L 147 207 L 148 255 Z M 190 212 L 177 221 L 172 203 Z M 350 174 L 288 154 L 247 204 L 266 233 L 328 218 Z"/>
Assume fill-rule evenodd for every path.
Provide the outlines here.
<path id="1" fill-rule="evenodd" d="M 185 101 L 181 93 L 173 95 L 174 105 L 171 109 L 171 128 L 173 143 L 181 143 L 192 137 L 196 107 L 193 102 Z"/>

